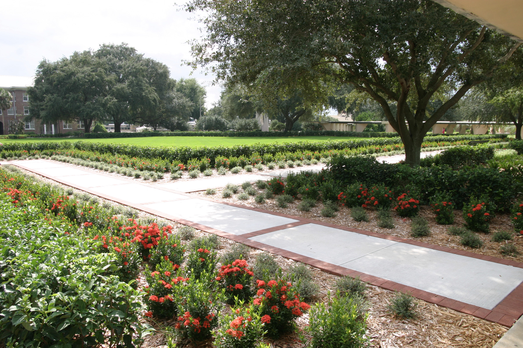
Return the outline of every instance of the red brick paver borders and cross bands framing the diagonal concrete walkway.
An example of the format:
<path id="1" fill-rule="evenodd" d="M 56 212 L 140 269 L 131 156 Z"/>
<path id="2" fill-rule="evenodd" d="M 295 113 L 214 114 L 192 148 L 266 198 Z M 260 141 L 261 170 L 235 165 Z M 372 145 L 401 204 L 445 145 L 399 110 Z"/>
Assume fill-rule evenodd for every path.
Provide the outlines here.
<path id="1" fill-rule="evenodd" d="M 201 224 L 198 224 L 198 223 L 195 223 L 192 221 L 188 221 L 185 219 L 180 219 L 173 215 L 169 215 L 169 214 L 166 214 L 166 213 L 154 210 L 154 209 L 144 207 L 142 204 L 127 202 L 127 201 L 124 201 L 121 199 L 117 199 L 115 197 L 111 197 L 109 195 L 105 195 L 103 193 L 99 193 L 97 191 L 91 190 L 86 187 L 72 185 L 71 183 L 68 183 L 67 181 L 62 180 L 58 177 L 53 177 L 53 176 L 41 173 L 38 170 L 29 169 L 29 168 L 25 167 L 23 164 L 20 164 L 20 162 L 17 161 L 16 163 L 12 162 L 9 164 L 14 164 L 27 171 L 47 177 L 49 179 L 52 179 L 53 181 L 56 181 L 56 182 L 59 182 L 59 183 L 65 184 L 65 185 L 72 186 L 76 189 L 86 191 L 87 193 L 102 197 L 104 199 L 112 200 L 112 201 L 121 203 L 123 205 L 130 206 L 135 209 L 142 210 L 147 213 L 166 218 L 168 220 L 173 220 L 173 221 L 179 222 L 181 224 L 189 225 L 189 226 L 197 228 L 198 230 L 217 234 L 221 237 L 228 238 L 233 241 L 246 244 L 253 248 L 265 250 L 270 253 L 274 253 L 274 254 L 280 255 L 282 257 L 285 257 L 285 258 L 289 258 L 289 259 L 292 259 L 295 261 L 300 261 L 300 262 L 306 263 L 306 264 L 308 264 L 312 267 L 315 267 L 317 269 L 320 269 L 324 272 L 332 273 L 334 275 L 339 275 L 339 276 L 350 275 L 350 277 L 360 277 L 360 279 L 362 281 L 365 281 L 365 282 L 375 285 L 375 286 L 382 287 L 383 289 L 386 289 L 386 290 L 410 292 L 414 297 L 422 299 L 423 301 L 426 301 L 429 303 L 434 303 L 434 304 L 437 304 L 442 307 L 451 308 L 451 309 L 460 311 L 461 313 L 465 313 L 465 314 L 469 314 L 469 315 L 472 315 L 472 316 L 475 316 L 478 318 L 486 319 L 488 321 L 497 322 L 497 323 L 500 323 L 501 325 L 504 325 L 507 327 L 511 327 L 516 322 L 516 320 L 523 315 L 523 282 L 521 284 L 519 284 L 516 287 L 516 289 L 514 289 L 510 294 L 508 294 L 503 299 L 502 302 L 500 302 L 496 307 L 494 307 L 494 309 L 490 310 L 490 309 L 470 305 L 470 304 L 467 304 L 464 302 L 456 301 L 454 299 L 447 298 L 445 296 L 441 296 L 441 295 L 437 295 L 437 294 L 430 293 L 427 291 L 419 290 L 414 287 L 407 286 L 407 285 L 404 285 L 401 283 L 396 283 L 396 282 L 393 282 L 393 281 L 390 281 L 387 279 L 374 277 L 373 275 L 370 275 L 370 274 L 366 274 L 366 273 L 351 270 L 351 269 L 348 269 L 345 267 L 337 266 L 337 265 L 334 265 L 333 263 L 328 263 L 325 261 L 306 257 L 306 256 L 303 256 L 300 254 L 292 253 L 291 251 L 288 251 L 285 249 L 280 249 L 280 248 L 277 248 L 277 247 L 274 247 L 274 246 L 271 246 L 268 244 L 252 241 L 251 239 L 248 239 L 248 238 L 256 236 L 256 235 L 260 235 L 260 234 L 288 229 L 289 227 L 293 227 L 293 226 L 298 226 L 298 225 L 303 225 L 303 224 L 308 224 L 308 223 L 315 223 L 315 224 L 320 224 L 320 225 L 324 225 L 324 226 L 328 226 L 328 227 L 333 227 L 333 228 L 339 229 L 339 230 L 345 230 L 345 231 L 349 231 L 349 232 L 365 234 L 365 235 L 374 236 L 374 237 L 378 237 L 378 238 L 389 239 L 389 240 L 392 240 L 395 242 L 401 242 L 401 243 L 416 245 L 416 246 L 425 247 L 425 248 L 429 248 L 429 249 L 445 251 L 446 253 L 482 259 L 482 260 L 486 260 L 486 261 L 490 261 L 490 262 L 501 263 L 503 265 L 508 265 L 508 266 L 523 268 L 523 263 L 521 263 L 521 262 L 516 262 L 513 260 L 505 260 L 505 259 L 497 258 L 497 257 L 493 257 L 493 256 L 476 254 L 476 253 L 472 253 L 471 251 L 466 251 L 466 250 L 458 250 L 458 249 L 443 247 L 440 245 L 423 243 L 423 242 L 419 242 L 419 241 L 414 241 L 412 239 L 390 236 L 390 235 L 386 235 L 386 234 L 382 234 L 382 233 L 353 229 L 351 227 L 335 225 L 335 224 L 328 223 L 328 222 L 322 222 L 322 221 L 317 221 L 317 220 L 312 220 L 312 219 L 295 217 L 293 215 L 283 214 L 283 213 L 274 212 L 274 211 L 270 211 L 270 210 L 242 206 L 242 205 L 238 205 L 236 203 L 222 202 L 222 201 L 215 200 L 215 199 L 208 198 L 208 197 L 201 197 L 201 196 L 193 195 L 190 193 L 182 193 L 182 192 L 171 190 L 171 189 L 158 188 L 154 185 L 147 184 L 147 183 L 143 183 L 143 184 L 141 183 L 141 185 L 144 185 L 144 186 L 162 189 L 162 190 L 176 193 L 179 195 L 187 196 L 187 198 L 199 198 L 199 199 L 208 200 L 208 201 L 212 201 L 212 202 L 222 203 L 222 204 L 233 206 L 233 207 L 254 210 L 254 211 L 258 211 L 258 212 L 263 212 L 263 213 L 268 213 L 268 214 L 272 214 L 272 215 L 277 215 L 280 217 L 298 220 L 298 222 L 270 227 L 269 229 L 265 229 L 265 230 L 255 231 L 255 232 L 246 233 L 246 234 L 242 234 L 242 235 L 234 235 L 231 233 L 226 233 L 226 232 L 223 232 L 223 231 L 220 231 L 217 229 L 213 229 L 212 227 L 209 227 L 209 226 L 201 225 Z M 67 166 L 67 163 L 64 163 L 63 165 Z M 98 174 L 98 175 L 108 176 L 108 177 L 112 177 L 112 178 L 115 177 L 113 175 L 109 175 L 106 173 L 94 172 L 89 169 L 83 169 L 83 170 L 86 172 L 92 173 L 92 174 Z M 122 181 L 136 183 L 132 179 L 127 179 L 127 178 L 120 178 L 120 179 L 122 179 Z"/>

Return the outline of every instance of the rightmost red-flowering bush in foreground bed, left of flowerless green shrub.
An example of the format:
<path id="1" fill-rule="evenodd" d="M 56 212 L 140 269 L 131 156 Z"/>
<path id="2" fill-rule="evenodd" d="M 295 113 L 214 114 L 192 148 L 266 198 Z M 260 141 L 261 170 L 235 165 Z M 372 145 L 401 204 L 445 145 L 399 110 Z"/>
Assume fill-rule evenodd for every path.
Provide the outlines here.
<path id="1" fill-rule="evenodd" d="M 311 306 L 300 302 L 300 294 L 291 283 L 283 279 L 256 281 L 256 296 L 253 303 L 260 306 L 261 322 L 265 323 L 270 337 L 279 337 L 292 329 L 293 320 L 301 317 Z"/>

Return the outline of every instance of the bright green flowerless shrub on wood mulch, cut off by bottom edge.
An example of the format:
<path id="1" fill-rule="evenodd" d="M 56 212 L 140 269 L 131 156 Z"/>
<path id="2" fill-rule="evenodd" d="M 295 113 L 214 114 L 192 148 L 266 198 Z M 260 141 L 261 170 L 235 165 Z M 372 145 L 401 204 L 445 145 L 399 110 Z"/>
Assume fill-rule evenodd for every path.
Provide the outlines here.
<path id="1" fill-rule="evenodd" d="M 357 300 L 350 297 L 329 297 L 327 303 L 314 304 L 309 310 L 310 337 L 307 346 L 311 348 L 360 348 L 367 346 L 367 330 L 364 315 L 358 313 Z M 301 338 L 305 343 L 306 339 Z"/>

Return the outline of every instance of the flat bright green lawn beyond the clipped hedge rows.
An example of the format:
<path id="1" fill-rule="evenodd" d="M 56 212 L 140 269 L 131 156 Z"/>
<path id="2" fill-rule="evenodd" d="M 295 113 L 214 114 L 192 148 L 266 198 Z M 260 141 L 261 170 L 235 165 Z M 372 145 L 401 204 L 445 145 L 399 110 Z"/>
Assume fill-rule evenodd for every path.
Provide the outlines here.
<path id="1" fill-rule="evenodd" d="M 82 139 L 82 138 L 32 138 L 32 139 L 0 139 L 0 142 L 7 143 L 12 141 L 95 141 L 113 142 L 144 146 L 231 146 L 231 145 L 250 145 L 257 142 L 295 142 L 295 141 L 325 141 L 325 140 L 347 140 L 361 139 L 357 137 L 143 137 L 143 138 L 101 138 L 101 139 Z"/>

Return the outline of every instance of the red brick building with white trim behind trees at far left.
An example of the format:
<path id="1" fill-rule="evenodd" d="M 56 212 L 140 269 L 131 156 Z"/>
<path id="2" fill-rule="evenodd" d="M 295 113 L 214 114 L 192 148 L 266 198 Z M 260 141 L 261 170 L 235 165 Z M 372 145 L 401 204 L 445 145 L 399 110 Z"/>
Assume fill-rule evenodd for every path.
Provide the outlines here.
<path id="1" fill-rule="evenodd" d="M 15 125 L 30 115 L 27 88 L 32 86 L 33 82 L 34 76 L 0 75 L 0 88 L 13 95 L 13 105 L 10 109 L 0 110 L 0 135 L 15 133 Z M 32 119 L 24 122 L 24 133 L 26 134 L 64 134 L 74 131 L 85 131 L 82 121 L 42 123 L 39 119 Z"/>

